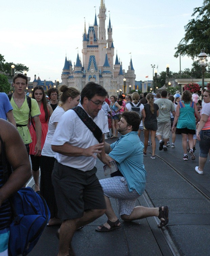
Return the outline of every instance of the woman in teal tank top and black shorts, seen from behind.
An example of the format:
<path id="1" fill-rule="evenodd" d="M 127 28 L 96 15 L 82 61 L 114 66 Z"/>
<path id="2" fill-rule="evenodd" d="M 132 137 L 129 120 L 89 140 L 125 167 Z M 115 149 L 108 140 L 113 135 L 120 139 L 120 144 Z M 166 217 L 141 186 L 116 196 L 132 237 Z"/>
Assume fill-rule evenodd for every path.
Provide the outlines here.
<path id="1" fill-rule="evenodd" d="M 200 120 L 199 113 L 197 111 L 197 105 L 192 101 L 191 92 L 185 90 L 182 93 L 182 101 L 177 104 L 176 115 L 174 117 L 172 132 L 174 132 L 174 126 L 176 125 L 176 134 L 182 134 L 182 146 L 184 151 L 183 160 L 188 160 L 187 155 L 187 138 L 189 140 L 190 156 L 192 160 L 195 160 L 195 154 L 193 152 L 193 135 L 196 130 L 195 115 Z"/>

